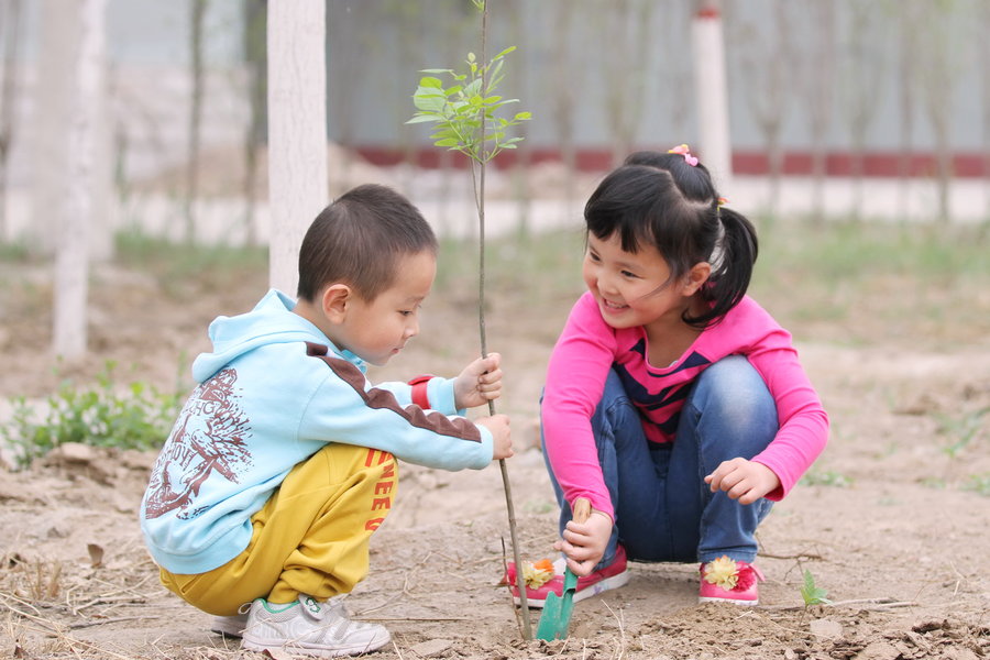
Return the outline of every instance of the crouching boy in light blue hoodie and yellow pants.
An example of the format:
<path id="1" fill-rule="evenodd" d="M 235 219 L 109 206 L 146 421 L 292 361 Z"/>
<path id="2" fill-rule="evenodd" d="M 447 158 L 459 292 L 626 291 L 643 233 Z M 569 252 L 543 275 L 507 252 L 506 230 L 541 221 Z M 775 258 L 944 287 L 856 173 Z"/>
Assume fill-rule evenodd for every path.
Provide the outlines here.
<path id="1" fill-rule="evenodd" d="M 141 528 L 162 583 L 244 648 L 336 657 L 388 644 L 341 601 L 367 574 L 395 459 L 461 470 L 513 455 L 507 417 L 459 416 L 499 396 L 498 354 L 453 380 L 364 375 L 419 332 L 436 270 L 419 211 L 360 186 L 309 228 L 298 301 L 272 290 L 210 324 L 213 352 L 193 364 L 199 386 L 155 463 Z"/>

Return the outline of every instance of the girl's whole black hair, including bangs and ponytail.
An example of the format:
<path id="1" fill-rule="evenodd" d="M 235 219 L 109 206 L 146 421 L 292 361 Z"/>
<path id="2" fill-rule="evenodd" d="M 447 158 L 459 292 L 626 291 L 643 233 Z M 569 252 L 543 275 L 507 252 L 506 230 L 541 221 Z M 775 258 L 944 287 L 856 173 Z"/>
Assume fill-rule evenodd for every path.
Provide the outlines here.
<path id="1" fill-rule="evenodd" d="M 757 237 L 743 215 L 719 206 L 708 169 L 681 154 L 636 152 L 598 184 L 584 207 L 587 231 L 607 240 L 618 232 L 626 252 L 654 245 L 671 282 L 701 262 L 712 275 L 701 288 L 710 304 L 684 322 L 714 326 L 746 295 L 757 258 Z"/>

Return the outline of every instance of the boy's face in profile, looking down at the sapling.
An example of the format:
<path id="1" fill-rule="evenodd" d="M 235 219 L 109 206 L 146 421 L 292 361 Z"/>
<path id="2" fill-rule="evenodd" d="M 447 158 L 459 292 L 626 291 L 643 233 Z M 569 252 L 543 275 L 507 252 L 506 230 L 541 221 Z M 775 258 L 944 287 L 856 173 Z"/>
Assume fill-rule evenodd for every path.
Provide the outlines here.
<path id="1" fill-rule="evenodd" d="M 348 301 L 337 339 L 365 362 L 383 365 L 419 334 L 419 306 L 437 275 L 437 257 L 429 251 L 399 257 L 395 284 L 372 300 Z"/>

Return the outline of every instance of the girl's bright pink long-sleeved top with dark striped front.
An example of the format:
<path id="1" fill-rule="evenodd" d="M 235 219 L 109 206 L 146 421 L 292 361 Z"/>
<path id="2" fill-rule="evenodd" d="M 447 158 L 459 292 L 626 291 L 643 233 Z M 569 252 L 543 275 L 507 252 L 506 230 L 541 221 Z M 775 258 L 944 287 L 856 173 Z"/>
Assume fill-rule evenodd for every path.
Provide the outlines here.
<path id="1" fill-rule="evenodd" d="M 602 318 L 591 293 L 574 305 L 550 356 L 541 408 L 548 458 L 568 502 L 579 496 L 614 516 L 598 465 L 591 417 L 613 364 L 641 385 L 630 392 L 650 442 L 671 442 L 688 388 L 710 365 L 727 355 L 746 355 L 777 402 L 780 430 L 754 457 L 773 471 L 781 499 L 822 453 L 828 417 L 791 345 L 791 336 L 748 296 L 714 327 L 705 329 L 673 364 L 656 367 L 642 327 L 616 330 Z"/>

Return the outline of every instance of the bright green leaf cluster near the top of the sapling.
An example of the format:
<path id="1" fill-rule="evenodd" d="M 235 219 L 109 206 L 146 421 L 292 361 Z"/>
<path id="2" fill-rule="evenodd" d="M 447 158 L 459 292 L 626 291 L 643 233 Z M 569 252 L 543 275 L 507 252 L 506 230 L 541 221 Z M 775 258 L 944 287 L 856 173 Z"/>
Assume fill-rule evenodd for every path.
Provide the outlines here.
<path id="1" fill-rule="evenodd" d="M 497 113 L 518 99 L 506 99 L 495 94 L 505 77 L 505 56 L 515 51 L 509 46 L 487 63 L 480 63 L 474 53 L 468 54 L 465 73 L 453 69 L 424 69 L 428 74 L 419 79 L 413 94 L 417 112 L 407 124 L 435 123 L 430 135 L 435 146 L 458 151 L 476 163 L 487 163 L 506 148 L 516 148 L 522 138 L 510 138 L 507 129 L 532 119 L 527 111 L 512 117 Z M 453 84 L 444 87 L 447 77 Z"/>

